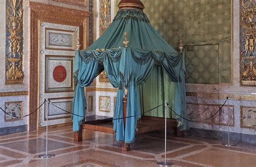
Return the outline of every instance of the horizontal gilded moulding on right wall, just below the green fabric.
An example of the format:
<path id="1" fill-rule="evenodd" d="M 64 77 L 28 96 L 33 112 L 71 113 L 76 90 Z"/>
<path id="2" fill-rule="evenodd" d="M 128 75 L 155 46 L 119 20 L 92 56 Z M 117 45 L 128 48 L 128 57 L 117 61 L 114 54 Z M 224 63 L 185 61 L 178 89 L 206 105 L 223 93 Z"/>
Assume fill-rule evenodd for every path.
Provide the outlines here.
<path id="1" fill-rule="evenodd" d="M 256 100 L 256 95 L 186 92 L 186 96 L 207 99 Z"/>

